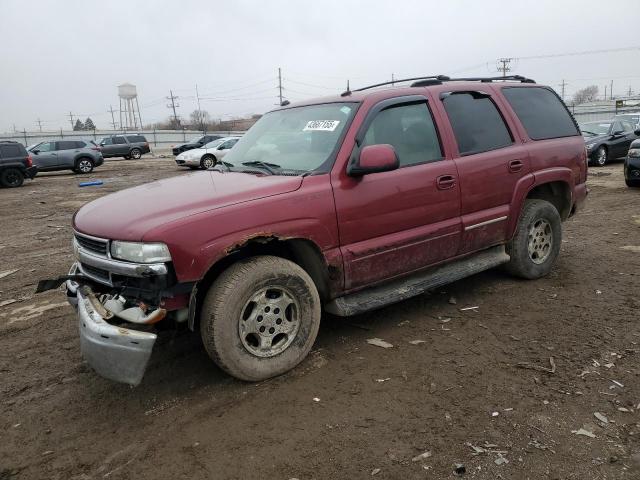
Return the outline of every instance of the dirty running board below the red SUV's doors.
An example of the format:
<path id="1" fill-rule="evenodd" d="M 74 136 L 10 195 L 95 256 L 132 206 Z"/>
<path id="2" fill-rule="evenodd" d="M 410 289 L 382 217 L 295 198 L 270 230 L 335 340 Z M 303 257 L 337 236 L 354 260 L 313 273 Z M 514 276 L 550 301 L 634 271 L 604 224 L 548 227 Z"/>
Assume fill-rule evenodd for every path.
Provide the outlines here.
<path id="1" fill-rule="evenodd" d="M 325 311 L 340 317 L 349 317 L 375 310 L 497 267 L 507 263 L 509 259 L 504 245 L 492 247 L 460 260 L 336 298 L 325 305 Z"/>

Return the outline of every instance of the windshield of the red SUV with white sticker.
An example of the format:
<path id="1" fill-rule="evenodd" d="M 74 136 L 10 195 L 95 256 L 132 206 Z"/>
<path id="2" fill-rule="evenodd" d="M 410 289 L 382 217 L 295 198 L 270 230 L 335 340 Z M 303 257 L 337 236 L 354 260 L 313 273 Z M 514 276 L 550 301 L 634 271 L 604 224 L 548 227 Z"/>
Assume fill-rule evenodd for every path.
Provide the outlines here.
<path id="1" fill-rule="evenodd" d="M 224 163 L 268 164 L 276 174 L 316 170 L 331 156 L 355 110 L 353 103 L 328 103 L 268 113 L 229 151 Z"/>

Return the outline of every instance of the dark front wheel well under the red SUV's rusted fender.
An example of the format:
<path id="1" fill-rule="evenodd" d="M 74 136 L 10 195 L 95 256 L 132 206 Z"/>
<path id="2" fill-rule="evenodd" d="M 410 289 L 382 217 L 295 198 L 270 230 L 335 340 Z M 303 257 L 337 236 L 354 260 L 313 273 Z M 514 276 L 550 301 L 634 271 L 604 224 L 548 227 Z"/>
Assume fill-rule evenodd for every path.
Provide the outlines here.
<path id="1" fill-rule="evenodd" d="M 273 255 L 291 260 L 309 274 L 323 302 L 329 297 L 329 269 L 322 252 L 310 240 L 302 238 L 281 239 L 272 235 L 255 236 L 227 251 L 228 255 L 218 260 L 197 284 L 193 324 L 190 319 L 190 327 L 194 330 L 199 322 L 200 308 L 209 287 L 224 270 L 244 258 Z"/>

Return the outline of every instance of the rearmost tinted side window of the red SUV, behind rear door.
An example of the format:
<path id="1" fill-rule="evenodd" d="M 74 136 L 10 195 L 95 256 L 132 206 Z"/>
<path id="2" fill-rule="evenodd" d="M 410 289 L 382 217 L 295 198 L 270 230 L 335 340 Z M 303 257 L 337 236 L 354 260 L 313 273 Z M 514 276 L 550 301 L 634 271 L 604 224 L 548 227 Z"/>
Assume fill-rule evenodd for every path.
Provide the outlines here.
<path id="1" fill-rule="evenodd" d="M 532 140 L 580 135 L 567 107 L 544 87 L 506 87 L 502 93 Z"/>

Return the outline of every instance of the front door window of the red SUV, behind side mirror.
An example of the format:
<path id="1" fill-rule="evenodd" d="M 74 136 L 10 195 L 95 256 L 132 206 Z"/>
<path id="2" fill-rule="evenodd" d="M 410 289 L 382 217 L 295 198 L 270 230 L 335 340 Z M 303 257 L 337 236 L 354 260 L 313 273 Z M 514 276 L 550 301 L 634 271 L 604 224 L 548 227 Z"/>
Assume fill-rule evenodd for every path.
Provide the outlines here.
<path id="1" fill-rule="evenodd" d="M 385 143 L 395 148 L 400 166 L 442 159 L 438 134 L 426 103 L 393 106 L 378 113 L 362 146 Z"/>

